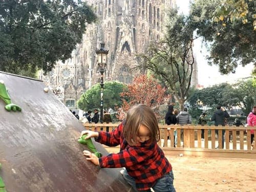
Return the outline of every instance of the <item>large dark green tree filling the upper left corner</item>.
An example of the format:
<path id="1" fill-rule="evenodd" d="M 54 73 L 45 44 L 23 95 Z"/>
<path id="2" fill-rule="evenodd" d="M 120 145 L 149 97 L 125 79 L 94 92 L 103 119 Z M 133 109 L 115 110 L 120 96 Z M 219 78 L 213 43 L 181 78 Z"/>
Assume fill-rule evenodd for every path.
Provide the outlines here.
<path id="1" fill-rule="evenodd" d="M 57 60 L 70 58 L 95 19 L 86 3 L 0 1 L 0 70 L 51 71 Z"/>

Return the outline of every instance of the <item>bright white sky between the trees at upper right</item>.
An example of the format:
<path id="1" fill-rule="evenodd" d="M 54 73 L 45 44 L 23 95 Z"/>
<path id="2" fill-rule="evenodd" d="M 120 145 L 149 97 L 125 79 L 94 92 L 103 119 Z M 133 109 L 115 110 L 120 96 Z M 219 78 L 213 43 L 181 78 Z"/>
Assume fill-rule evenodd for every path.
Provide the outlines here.
<path id="1" fill-rule="evenodd" d="M 188 14 L 189 0 L 176 0 L 179 11 Z M 201 86 L 208 87 L 222 82 L 237 82 L 238 79 L 249 77 L 253 69 L 253 63 L 246 67 L 239 66 L 236 73 L 229 75 L 221 75 L 218 66 L 209 66 L 207 64 L 206 55 L 207 51 L 201 45 L 201 39 L 194 41 L 194 50 L 198 63 L 198 83 Z"/>

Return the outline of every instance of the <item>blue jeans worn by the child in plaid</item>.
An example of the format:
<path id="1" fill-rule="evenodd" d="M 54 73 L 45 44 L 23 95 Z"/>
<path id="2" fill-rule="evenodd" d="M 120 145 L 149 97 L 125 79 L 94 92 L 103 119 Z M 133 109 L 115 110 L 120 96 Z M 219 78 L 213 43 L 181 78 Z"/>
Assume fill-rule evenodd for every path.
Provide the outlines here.
<path id="1" fill-rule="evenodd" d="M 127 183 L 129 183 L 136 191 L 135 179 L 128 175 L 127 170 L 125 169 L 123 172 L 123 178 Z M 162 178 L 158 179 L 156 184 L 152 187 L 155 192 L 176 192 L 174 188 L 174 174 L 171 170 L 169 173 L 165 174 Z M 151 189 L 148 190 L 139 190 L 139 192 L 150 192 Z"/>

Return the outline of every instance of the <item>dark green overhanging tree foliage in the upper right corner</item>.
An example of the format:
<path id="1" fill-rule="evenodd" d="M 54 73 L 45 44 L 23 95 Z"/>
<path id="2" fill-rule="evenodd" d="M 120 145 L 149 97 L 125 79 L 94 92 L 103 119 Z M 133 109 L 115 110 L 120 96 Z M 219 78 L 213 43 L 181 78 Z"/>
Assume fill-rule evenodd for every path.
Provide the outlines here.
<path id="1" fill-rule="evenodd" d="M 197 35 L 207 42 L 209 64 L 219 66 L 221 73 L 228 74 L 234 73 L 238 65 L 255 62 L 255 31 L 251 28 L 255 1 L 247 1 L 247 23 L 241 22 L 241 17 L 229 25 L 226 25 L 229 17 L 216 17 L 222 3 L 222 0 L 197 0 L 191 5 L 190 17 L 195 20 Z"/>

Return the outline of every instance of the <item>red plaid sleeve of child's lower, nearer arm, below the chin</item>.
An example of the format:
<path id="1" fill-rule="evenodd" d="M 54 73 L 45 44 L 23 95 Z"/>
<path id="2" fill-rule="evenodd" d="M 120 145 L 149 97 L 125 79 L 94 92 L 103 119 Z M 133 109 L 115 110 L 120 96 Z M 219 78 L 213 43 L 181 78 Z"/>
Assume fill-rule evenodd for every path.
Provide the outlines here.
<path id="1" fill-rule="evenodd" d="M 153 150 L 150 148 L 148 150 L 140 150 L 138 147 L 130 147 L 117 154 L 109 154 L 99 158 L 99 165 L 101 168 L 130 167 L 145 161 L 152 154 Z"/>

